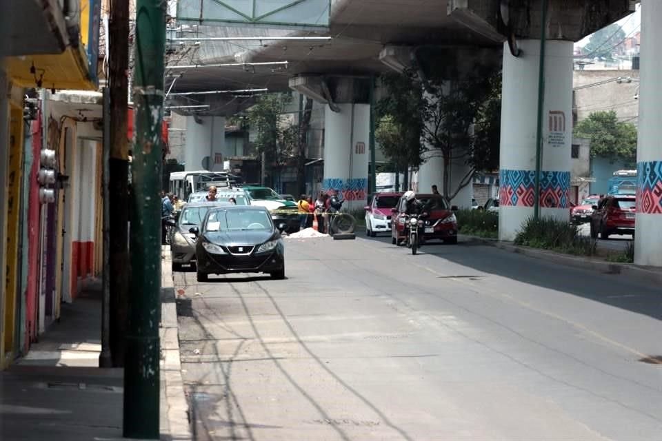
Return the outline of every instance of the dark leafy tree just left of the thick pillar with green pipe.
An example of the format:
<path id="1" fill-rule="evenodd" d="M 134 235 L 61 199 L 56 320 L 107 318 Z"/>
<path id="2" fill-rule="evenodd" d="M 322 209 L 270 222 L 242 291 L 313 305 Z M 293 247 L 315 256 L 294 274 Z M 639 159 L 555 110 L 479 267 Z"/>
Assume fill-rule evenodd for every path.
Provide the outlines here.
<path id="1" fill-rule="evenodd" d="M 429 78 L 423 94 L 421 140 L 428 158 L 443 158 L 443 198 L 450 203 L 472 182 L 478 170 L 494 170 L 499 163 L 501 72 L 477 68 L 469 79 Z M 469 170 L 451 186 L 451 167 L 463 161 Z"/>

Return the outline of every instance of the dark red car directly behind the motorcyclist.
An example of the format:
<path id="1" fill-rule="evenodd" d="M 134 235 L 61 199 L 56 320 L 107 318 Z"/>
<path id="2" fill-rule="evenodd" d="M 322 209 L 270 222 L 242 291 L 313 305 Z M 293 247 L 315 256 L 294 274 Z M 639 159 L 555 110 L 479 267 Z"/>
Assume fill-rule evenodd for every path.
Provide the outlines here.
<path id="1" fill-rule="evenodd" d="M 454 213 L 457 207 L 449 207 L 444 198 L 435 194 L 418 194 L 417 199 L 425 205 L 430 214 L 425 218 L 421 243 L 433 239 L 443 240 L 444 243 L 457 243 L 457 218 Z M 391 243 L 394 245 L 399 245 L 405 239 L 405 209 L 404 197 L 392 208 Z"/>

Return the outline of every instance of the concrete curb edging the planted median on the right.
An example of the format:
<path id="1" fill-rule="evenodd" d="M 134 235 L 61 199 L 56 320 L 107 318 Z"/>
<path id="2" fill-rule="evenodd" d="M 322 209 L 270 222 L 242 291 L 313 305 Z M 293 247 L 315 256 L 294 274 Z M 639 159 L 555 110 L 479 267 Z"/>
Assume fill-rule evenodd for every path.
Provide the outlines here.
<path id="1" fill-rule="evenodd" d="M 565 254 L 548 251 L 546 249 L 522 247 L 519 245 L 512 245 L 511 243 L 499 242 L 497 239 L 468 236 L 466 234 L 459 234 L 458 237 L 470 242 L 484 243 L 485 245 L 490 245 L 508 252 L 547 260 L 548 262 L 565 265 L 567 267 L 588 269 L 602 274 L 619 274 L 624 277 L 636 279 L 637 281 L 645 280 L 649 283 L 662 284 L 662 271 L 639 267 L 631 263 L 610 263 L 603 260 L 566 256 Z"/>

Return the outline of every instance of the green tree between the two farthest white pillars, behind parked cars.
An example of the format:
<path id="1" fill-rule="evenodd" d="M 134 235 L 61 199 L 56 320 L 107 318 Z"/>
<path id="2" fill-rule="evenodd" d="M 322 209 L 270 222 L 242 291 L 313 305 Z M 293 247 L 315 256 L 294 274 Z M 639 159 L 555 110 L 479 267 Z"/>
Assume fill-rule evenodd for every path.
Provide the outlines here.
<path id="1" fill-rule="evenodd" d="M 299 127 L 283 115 L 291 102 L 290 94 L 264 94 L 248 110 L 250 126 L 257 131 L 255 147 L 272 176 L 299 148 Z"/>

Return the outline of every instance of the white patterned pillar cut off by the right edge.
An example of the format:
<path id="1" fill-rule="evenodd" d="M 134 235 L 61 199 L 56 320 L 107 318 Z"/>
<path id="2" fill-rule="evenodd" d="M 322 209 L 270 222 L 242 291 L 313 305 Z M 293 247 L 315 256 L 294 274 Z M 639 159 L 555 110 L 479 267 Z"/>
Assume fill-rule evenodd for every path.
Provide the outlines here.
<path id="1" fill-rule="evenodd" d="M 644 0 L 641 10 L 634 263 L 662 267 L 662 2 Z"/>

